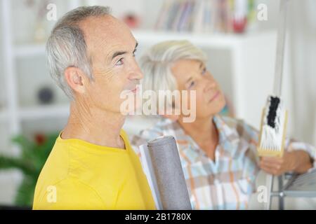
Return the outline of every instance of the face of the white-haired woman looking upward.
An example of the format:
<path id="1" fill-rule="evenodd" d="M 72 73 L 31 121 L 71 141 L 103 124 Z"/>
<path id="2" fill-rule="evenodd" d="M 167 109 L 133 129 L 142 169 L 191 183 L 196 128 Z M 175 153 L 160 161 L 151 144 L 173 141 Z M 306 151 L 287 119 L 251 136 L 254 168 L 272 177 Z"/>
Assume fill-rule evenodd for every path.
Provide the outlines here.
<path id="1" fill-rule="evenodd" d="M 187 105 L 195 100 L 197 118 L 208 118 L 223 109 L 225 106 L 223 92 L 203 62 L 181 59 L 173 64 L 171 72 L 177 80 L 178 90 L 196 90 L 196 99 L 190 99 L 188 92 Z"/>

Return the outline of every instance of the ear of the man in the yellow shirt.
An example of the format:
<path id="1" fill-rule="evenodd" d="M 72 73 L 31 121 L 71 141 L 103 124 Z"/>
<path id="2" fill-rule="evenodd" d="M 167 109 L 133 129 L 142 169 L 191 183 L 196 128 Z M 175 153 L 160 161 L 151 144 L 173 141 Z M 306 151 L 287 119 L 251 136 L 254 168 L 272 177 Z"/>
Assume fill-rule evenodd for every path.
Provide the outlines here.
<path id="1" fill-rule="evenodd" d="M 84 73 L 76 67 L 65 69 L 65 80 L 74 92 L 84 93 L 86 90 Z"/>

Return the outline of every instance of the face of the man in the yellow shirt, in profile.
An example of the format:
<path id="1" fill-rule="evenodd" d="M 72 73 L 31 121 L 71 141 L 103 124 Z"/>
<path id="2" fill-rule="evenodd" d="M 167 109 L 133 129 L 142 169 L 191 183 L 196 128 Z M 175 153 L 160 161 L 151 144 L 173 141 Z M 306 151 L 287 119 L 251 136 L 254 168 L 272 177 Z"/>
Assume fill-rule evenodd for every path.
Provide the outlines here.
<path id="1" fill-rule="evenodd" d="M 86 83 L 86 92 L 79 97 L 89 108 L 118 113 L 124 101 L 121 92 L 130 90 L 136 94 L 136 85 L 143 78 L 134 57 L 137 42 L 129 27 L 110 15 L 88 18 L 80 27 L 94 80 Z"/>

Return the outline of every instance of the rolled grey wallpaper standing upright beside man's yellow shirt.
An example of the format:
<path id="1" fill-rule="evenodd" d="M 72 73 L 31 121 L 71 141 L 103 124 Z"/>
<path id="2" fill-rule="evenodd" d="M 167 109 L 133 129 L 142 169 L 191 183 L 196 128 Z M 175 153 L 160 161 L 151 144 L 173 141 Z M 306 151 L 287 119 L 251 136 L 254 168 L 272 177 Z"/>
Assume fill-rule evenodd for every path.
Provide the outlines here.
<path id="1" fill-rule="evenodd" d="M 185 184 L 176 140 L 171 136 L 148 142 L 148 151 L 165 210 L 190 210 L 190 197 Z"/>

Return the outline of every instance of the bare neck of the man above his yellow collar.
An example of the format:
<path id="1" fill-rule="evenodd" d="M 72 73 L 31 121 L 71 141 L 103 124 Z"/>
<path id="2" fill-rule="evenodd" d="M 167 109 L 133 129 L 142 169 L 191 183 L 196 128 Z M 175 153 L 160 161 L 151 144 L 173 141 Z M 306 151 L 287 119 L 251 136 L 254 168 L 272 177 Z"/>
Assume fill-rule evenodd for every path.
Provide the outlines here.
<path id="1" fill-rule="evenodd" d="M 125 117 L 121 113 L 82 105 L 72 102 L 70 118 L 62 131 L 62 139 L 81 139 L 98 146 L 125 148 L 120 137 Z"/>

